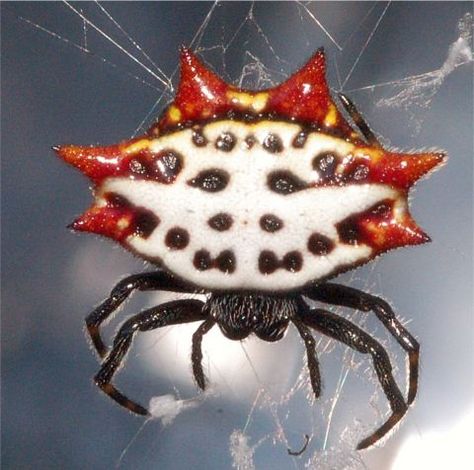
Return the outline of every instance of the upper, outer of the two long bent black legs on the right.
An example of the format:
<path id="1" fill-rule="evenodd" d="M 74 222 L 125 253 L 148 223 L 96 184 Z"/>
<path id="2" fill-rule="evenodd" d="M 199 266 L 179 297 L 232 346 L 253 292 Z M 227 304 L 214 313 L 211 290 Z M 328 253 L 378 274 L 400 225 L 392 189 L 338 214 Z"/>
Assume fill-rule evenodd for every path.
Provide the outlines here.
<path id="1" fill-rule="evenodd" d="M 306 292 L 305 295 L 320 302 L 375 313 L 385 328 L 397 340 L 397 343 L 408 354 L 407 403 L 411 405 L 418 390 L 420 344 L 397 320 L 390 305 L 379 297 L 341 284 L 321 284 Z"/>

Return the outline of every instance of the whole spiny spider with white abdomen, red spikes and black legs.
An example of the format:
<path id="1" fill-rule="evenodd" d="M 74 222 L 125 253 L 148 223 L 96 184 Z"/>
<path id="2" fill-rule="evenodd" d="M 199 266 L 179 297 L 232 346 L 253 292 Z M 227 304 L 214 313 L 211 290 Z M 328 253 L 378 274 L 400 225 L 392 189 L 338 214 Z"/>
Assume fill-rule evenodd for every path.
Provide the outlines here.
<path id="1" fill-rule="evenodd" d="M 418 342 L 387 302 L 328 280 L 387 250 L 429 241 L 408 212 L 408 191 L 444 154 L 384 149 L 353 102 L 339 99 L 355 128 L 331 98 L 322 49 L 280 85 L 249 91 L 182 48 L 174 101 L 147 134 L 107 147 L 54 148 L 94 184 L 94 204 L 71 228 L 110 237 L 159 266 L 121 281 L 86 319 L 103 360 L 95 383 L 110 398 L 149 414 L 112 383 L 138 332 L 200 322 L 191 361 L 204 390 L 201 343 L 213 326 L 232 340 L 255 334 L 273 342 L 292 324 L 316 397 L 312 330 L 371 356 L 391 414 L 358 449 L 405 415 L 417 393 Z M 100 327 L 135 290 L 200 293 L 206 301 L 145 310 L 123 323 L 108 350 Z M 308 299 L 376 315 L 408 355 L 406 399 L 380 343 Z"/>

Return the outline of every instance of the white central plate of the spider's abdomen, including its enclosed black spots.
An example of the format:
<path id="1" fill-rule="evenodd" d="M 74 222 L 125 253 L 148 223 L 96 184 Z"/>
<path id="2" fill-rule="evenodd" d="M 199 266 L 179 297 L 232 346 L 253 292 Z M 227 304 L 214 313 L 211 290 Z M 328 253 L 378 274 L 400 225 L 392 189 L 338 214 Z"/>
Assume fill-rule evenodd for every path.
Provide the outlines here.
<path id="1" fill-rule="evenodd" d="M 384 184 L 336 184 L 354 145 L 321 132 L 303 142 L 296 124 L 217 121 L 152 140 L 149 149 L 179 159 L 172 183 L 107 178 L 99 197 L 120 195 L 153 213 L 152 233 L 126 243 L 203 288 L 289 290 L 361 263 L 372 248 L 342 241 L 338 224 L 399 198 Z M 336 159 L 334 181 L 315 169 L 321 155 Z"/>

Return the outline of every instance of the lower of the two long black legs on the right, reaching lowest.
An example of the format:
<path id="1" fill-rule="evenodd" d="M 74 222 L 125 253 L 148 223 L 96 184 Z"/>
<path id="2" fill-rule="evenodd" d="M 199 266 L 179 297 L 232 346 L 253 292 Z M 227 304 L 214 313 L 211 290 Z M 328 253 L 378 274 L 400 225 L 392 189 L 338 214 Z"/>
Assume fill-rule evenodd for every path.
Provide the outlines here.
<path id="1" fill-rule="evenodd" d="M 363 354 L 370 354 L 375 372 L 387 397 L 392 414 L 374 433 L 359 442 L 357 450 L 375 444 L 392 429 L 406 413 L 408 406 L 392 375 L 392 365 L 385 349 L 366 332 L 345 318 L 320 309 L 303 310 L 298 313 L 301 320 L 320 333 L 347 344 Z"/>

